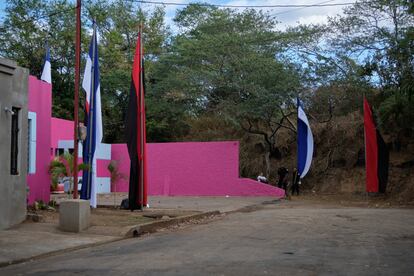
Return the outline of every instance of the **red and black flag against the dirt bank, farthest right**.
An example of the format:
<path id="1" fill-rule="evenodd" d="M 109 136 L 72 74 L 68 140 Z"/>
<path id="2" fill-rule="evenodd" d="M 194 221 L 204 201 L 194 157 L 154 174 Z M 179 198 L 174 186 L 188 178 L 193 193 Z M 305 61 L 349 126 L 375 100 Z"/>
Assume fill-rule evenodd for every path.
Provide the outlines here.
<path id="1" fill-rule="evenodd" d="M 385 193 L 388 181 L 389 153 L 375 126 L 371 107 L 364 98 L 365 167 L 368 193 Z"/>

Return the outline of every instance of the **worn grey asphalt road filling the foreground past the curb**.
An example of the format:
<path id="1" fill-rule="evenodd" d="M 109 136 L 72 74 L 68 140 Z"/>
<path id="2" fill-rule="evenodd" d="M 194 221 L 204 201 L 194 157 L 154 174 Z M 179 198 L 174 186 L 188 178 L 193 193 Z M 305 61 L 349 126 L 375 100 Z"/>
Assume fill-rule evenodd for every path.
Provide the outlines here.
<path id="1" fill-rule="evenodd" d="M 414 275 L 413 209 L 292 207 L 265 205 L 0 275 Z"/>

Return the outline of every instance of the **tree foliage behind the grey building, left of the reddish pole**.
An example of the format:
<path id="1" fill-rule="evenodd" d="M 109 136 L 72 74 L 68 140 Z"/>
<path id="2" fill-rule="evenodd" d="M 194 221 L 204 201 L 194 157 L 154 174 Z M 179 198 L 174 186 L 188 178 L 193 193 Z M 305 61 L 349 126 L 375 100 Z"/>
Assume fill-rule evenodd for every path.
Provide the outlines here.
<path id="1" fill-rule="evenodd" d="M 50 47 L 55 117 L 73 117 L 75 6 L 67 0 L 8 0 L 1 24 L 0 54 L 40 76 Z M 85 29 L 82 45 L 86 48 Z"/>

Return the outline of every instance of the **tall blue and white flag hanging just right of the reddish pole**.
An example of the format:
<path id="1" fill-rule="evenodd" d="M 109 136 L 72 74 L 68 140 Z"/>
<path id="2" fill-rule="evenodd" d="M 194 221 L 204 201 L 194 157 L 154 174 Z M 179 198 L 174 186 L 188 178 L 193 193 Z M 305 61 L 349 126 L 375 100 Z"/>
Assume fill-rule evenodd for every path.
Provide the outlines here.
<path id="1" fill-rule="evenodd" d="M 89 168 L 83 171 L 81 199 L 90 199 L 92 207 L 96 207 L 97 177 L 95 152 L 103 137 L 98 60 L 98 43 L 94 23 L 93 36 L 89 46 L 85 75 L 82 82 L 82 88 L 86 92 L 85 122 L 87 124 L 86 140 L 83 144 L 83 163 L 88 164 Z"/>

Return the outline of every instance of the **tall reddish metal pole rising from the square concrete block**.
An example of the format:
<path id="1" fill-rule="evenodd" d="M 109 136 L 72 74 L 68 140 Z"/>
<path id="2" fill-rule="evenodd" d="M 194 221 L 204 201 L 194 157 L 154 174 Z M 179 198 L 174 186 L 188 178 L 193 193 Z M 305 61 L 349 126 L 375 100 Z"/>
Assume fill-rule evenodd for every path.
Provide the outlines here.
<path id="1" fill-rule="evenodd" d="M 75 99 L 73 116 L 73 198 L 78 198 L 78 125 L 79 125 L 79 82 L 80 82 L 80 43 L 81 43 L 81 0 L 76 3 L 76 42 L 75 42 Z"/>

